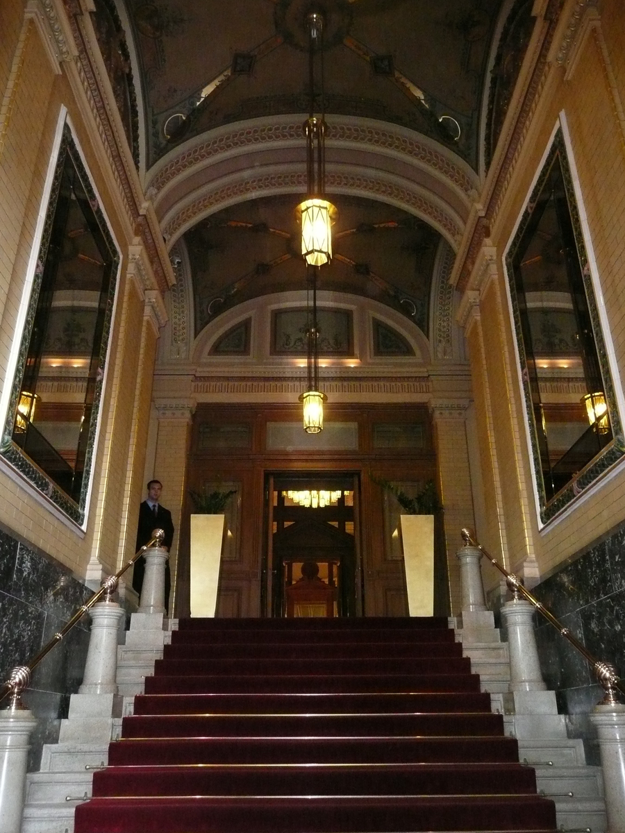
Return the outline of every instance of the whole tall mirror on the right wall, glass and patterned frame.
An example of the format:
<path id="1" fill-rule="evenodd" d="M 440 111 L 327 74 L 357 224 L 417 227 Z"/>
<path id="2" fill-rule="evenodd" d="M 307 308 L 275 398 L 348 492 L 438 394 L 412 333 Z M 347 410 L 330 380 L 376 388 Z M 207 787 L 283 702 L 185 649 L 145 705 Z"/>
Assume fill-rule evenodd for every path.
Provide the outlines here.
<path id="1" fill-rule="evenodd" d="M 562 132 L 507 252 L 542 520 L 622 451 Z M 609 454 L 603 453 L 609 451 Z"/>

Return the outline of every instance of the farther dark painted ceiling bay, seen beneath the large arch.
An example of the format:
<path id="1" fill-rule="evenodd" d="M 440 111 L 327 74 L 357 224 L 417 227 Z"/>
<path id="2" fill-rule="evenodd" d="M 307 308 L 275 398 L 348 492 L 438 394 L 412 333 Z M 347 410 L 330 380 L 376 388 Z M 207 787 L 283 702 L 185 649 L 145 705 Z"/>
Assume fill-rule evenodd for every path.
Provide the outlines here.
<path id="1" fill-rule="evenodd" d="M 338 208 L 333 261 L 319 289 L 373 298 L 427 332 L 428 297 L 441 237 L 398 208 L 329 195 Z M 306 288 L 293 195 L 263 197 L 207 217 L 188 231 L 195 332 L 235 304 Z"/>

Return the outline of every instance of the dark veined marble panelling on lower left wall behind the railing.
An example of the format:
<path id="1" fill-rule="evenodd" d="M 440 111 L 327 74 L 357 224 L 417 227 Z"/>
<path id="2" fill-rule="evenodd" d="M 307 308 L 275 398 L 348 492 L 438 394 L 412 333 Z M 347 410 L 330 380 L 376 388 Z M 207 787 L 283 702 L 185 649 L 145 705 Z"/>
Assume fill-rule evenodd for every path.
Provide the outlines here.
<path id="1" fill-rule="evenodd" d="M 57 561 L 0 530 L 0 680 L 7 680 L 13 666 L 35 656 L 90 596 L 92 591 Z M 43 744 L 57 742 L 69 696 L 82 682 L 89 624 L 85 616 L 52 648 L 23 695 L 38 721 L 29 771 L 39 768 Z"/>

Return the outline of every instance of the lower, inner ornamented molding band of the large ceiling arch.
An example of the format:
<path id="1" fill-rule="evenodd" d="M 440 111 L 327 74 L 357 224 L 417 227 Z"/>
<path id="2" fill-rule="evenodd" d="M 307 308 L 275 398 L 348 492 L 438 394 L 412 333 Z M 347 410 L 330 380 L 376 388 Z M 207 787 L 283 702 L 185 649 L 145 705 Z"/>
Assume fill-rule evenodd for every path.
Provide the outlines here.
<path id="1" fill-rule="evenodd" d="M 404 211 L 415 214 L 441 232 L 452 247 L 457 247 L 462 237 L 462 219 L 434 195 L 419 192 L 417 187 L 411 188 L 412 183 L 405 185 L 393 182 L 390 177 L 375 177 L 383 172 L 327 172 L 326 188 L 337 193 L 358 194 L 361 197 L 390 202 Z M 203 217 L 219 211 L 236 202 L 243 202 L 250 197 L 261 197 L 268 194 L 304 192 L 306 188 L 306 172 L 274 171 L 260 174 L 256 177 L 241 173 L 241 178 L 235 182 L 227 182 L 215 190 L 207 191 L 193 202 L 189 202 L 168 220 L 163 228 L 163 236 L 170 245 L 178 240 L 184 232 L 193 227 Z"/>

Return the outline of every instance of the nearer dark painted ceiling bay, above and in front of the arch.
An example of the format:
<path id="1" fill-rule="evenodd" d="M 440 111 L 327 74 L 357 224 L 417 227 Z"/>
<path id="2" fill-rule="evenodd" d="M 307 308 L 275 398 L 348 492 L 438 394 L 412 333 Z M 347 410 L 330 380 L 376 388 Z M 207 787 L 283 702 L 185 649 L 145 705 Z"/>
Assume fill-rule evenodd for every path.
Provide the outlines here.
<path id="1" fill-rule="evenodd" d="M 189 137 L 307 109 L 311 0 L 125 0 L 141 65 L 148 167 Z M 443 142 L 477 167 L 502 0 L 323 0 L 325 102 Z M 487 85 L 488 86 L 488 85 Z"/>

